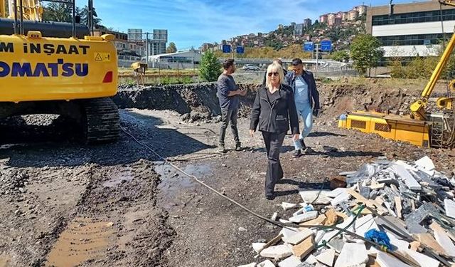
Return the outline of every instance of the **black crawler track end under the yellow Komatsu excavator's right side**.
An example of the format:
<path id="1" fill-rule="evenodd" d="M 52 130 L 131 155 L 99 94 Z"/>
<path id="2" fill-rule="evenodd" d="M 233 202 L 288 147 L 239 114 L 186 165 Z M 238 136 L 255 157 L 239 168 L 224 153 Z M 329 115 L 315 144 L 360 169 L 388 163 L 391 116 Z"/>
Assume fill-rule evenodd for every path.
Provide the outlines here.
<path id="1" fill-rule="evenodd" d="M 119 110 L 110 98 L 82 100 L 82 112 L 85 115 L 85 142 L 95 144 L 119 138 Z"/>

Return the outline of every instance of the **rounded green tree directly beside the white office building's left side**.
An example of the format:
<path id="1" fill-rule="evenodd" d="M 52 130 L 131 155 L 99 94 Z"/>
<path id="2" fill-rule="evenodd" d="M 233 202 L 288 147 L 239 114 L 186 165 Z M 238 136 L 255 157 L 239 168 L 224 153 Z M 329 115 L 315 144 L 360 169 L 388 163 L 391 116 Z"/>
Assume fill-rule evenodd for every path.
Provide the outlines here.
<path id="1" fill-rule="evenodd" d="M 384 56 L 380 48 L 381 43 L 370 34 L 359 34 L 355 36 L 350 45 L 350 57 L 354 61 L 354 68 L 361 75 L 366 75 L 367 70 L 378 66 Z"/>

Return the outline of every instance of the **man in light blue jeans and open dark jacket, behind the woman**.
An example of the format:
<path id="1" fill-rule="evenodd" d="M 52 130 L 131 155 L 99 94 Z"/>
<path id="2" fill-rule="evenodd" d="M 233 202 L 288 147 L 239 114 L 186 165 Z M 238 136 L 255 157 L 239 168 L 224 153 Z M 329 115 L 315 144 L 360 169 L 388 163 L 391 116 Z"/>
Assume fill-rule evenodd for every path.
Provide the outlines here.
<path id="1" fill-rule="evenodd" d="M 313 73 L 304 70 L 304 63 L 300 58 L 292 60 L 292 70 L 286 75 L 285 80 L 294 90 L 297 113 L 301 115 L 304 122 L 299 140 L 294 141 L 295 151 L 292 157 L 300 157 L 302 150 L 306 150 L 304 139 L 313 127 L 313 116 L 319 115 L 319 92 Z"/>

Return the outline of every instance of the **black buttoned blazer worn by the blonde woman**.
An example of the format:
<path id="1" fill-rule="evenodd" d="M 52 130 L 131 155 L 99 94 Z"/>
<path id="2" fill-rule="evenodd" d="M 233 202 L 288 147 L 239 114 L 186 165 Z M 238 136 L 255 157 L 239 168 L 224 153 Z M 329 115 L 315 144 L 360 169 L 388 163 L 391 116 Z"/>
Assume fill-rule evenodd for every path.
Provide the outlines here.
<path id="1" fill-rule="evenodd" d="M 269 103 L 267 88 L 257 90 L 255 104 L 251 110 L 250 130 L 262 132 L 287 132 L 289 125 L 293 135 L 299 134 L 299 117 L 297 116 L 294 93 L 288 85 L 279 89 L 279 98 L 274 103 Z"/>

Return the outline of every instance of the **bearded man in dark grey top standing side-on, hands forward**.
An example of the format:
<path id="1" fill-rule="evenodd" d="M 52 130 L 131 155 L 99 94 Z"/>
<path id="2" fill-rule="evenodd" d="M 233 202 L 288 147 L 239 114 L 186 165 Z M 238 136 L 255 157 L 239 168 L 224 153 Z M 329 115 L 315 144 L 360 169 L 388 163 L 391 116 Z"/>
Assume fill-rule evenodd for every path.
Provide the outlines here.
<path id="1" fill-rule="evenodd" d="M 221 108 L 221 127 L 220 127 L 220 144 L 219 151 L 222 153 L 227 152 L 225 149 L 225 135 L 226 128 L 228 128 L 230 122 L 230 128 L 232 135 L 235 140 L 235 150 L 242 150 L 239 132 L 237 130 L 237 115 L 239 111 L 239 96 L 246 95 L 245 90 L 240 90 L 235 84 L 235 80 L 232 77 L 232 73 L 235 72 L 235 63 L 232 58 L 225 60 L 223 63 L 224 71 L 218 77 L 217 88 L 218 88 L 218 100 L 220 100 Z"/>

